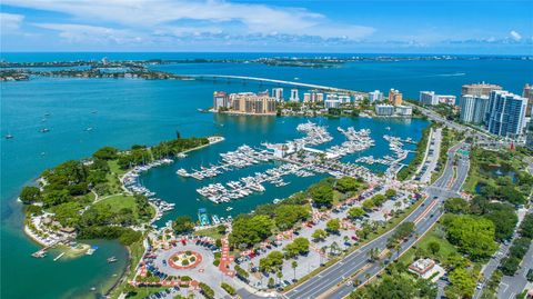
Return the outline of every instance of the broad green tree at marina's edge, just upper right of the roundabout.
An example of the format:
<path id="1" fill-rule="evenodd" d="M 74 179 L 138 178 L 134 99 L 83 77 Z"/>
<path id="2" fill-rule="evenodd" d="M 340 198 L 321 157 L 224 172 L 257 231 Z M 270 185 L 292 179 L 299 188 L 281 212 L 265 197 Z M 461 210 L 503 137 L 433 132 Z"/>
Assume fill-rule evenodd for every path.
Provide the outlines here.
<path id="1" fill-rule="evenodd" d="M 239 248 L 248 248 L 272 236 L 274 220 L 265 215 L 241 215 L 232 223 L 230 243 Z"/>

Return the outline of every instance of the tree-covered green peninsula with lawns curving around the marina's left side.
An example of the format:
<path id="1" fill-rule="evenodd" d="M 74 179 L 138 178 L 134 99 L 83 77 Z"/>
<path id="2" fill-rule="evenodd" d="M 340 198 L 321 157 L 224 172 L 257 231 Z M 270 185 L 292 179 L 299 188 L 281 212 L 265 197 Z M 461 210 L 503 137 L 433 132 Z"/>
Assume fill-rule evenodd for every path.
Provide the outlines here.
<path id="1" fill-rule="evenodd" d="M 207 143 L 207 138 L 190 138 L 151 148 L 133 146 L 125 151 L 104 147 L 91 158 L 48 169 L 38 186 L 27 186 L 20 192 L 20 200 L 27 205 L 27 227 L 39 238 L 56 235 L 58 242 L 77 237 L 119 239 L 131 245 L 142 238 L 142 232 L 132 227 L 142 228 L 155 211 L 145 196 L 122 190 L 119 176 Z M 40 219 L 37 222 L 36 217 Z"/>

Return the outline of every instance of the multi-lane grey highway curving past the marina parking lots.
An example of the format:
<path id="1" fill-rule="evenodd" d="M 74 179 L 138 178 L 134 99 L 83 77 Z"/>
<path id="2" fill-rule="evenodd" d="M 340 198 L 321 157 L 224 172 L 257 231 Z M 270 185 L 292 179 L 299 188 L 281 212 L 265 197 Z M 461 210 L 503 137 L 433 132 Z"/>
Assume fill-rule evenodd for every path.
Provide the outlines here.
<path id="1" fill-rule="evenodd" d="M 460 158 L 457 160 L 457 175 L 455 178 L 453 161 L 455 155 L 459 155 L 457 149 L 460 149 L 461 146 L 463 146 L 463 143 L 459 143 L 449 150 L 449 159 L 442 177 L 425 189 L 428 198 L 405 218 L 404 221 L 412 221 L 416 225 L 415 232 L 402 243 L 399 252 L 393 253 L 392 259 L 398 258 L 398 253 L 402 255 L 411 248 L 418 240 L 416 236 L 424 235 L 436 222 L 442 215 L 441 206 L 446 198 L 457 196 L 461 186 L 466 179 L 470 167 L 467 157 Z M 370 243 L 359 248 L 315 277 L 284 293 L 284 297 L 290 299 L 344 298 L 354 290 L 351 283 L 345 283 L 348 278 L 356 275 L 352 281 L 359 280 L 364 283 L 383 270 L 384 266 L 380 266 L 379 261 L 369 262 L 369 252 L 373 248 L 378 248 L 380 252 L 384 250 L 386 240 L 391 235 L 392 231 L 384 233 Z M 368 278 L 369 276 L 370 278 Z"/>

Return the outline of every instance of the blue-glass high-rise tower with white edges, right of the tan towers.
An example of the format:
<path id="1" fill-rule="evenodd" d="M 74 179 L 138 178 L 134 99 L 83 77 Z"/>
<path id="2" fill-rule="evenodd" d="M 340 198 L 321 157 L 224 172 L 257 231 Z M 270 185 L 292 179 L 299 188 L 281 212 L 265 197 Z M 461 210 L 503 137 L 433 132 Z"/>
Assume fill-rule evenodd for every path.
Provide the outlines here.
<path id="1" fill-rule="evenodd" d="M 516 138 L 525 126 L 527 99 L 505 90 L 493 90 L 489 97 L 485 128 L 502 137 Z"/>

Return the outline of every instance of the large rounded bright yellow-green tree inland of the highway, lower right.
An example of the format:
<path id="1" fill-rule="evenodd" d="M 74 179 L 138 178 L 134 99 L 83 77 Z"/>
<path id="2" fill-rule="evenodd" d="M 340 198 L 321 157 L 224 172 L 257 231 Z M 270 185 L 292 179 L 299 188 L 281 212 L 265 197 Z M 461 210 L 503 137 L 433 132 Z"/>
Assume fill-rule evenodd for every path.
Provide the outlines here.
<path id="1" fill-rule="evenodd" d="M 455 216 L 446 226 L 447 240 L 473 260 L 487 258 L 497 246 L 495 227 L 491 220 L 474 216 Z"/>

